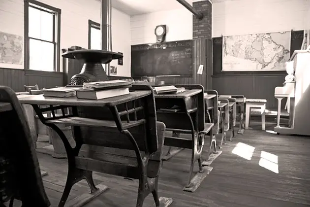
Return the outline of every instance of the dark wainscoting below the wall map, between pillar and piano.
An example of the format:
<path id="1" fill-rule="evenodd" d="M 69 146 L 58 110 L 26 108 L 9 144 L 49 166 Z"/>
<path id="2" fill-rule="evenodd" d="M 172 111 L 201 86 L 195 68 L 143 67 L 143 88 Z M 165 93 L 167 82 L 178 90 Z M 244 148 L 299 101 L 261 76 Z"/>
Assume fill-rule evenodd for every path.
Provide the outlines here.
<path id="1" fill-rule="evenodd" d="M 212 88 L 218 94 L 241 94 L 249 99 L 266 99 L 268 108 L 277 108 L 275 87 L 283 86 L 285 75 L 285 71 L 218 74 L 212 76 Z"/>

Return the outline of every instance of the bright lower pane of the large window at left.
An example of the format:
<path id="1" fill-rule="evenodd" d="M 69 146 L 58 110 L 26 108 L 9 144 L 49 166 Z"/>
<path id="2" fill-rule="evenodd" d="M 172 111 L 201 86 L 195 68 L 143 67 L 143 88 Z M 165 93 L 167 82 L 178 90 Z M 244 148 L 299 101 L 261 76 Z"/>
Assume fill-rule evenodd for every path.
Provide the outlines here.
<path id="1" fill-rule="evenodd" d="M 54 44 L 29 40 L 29 69 L 54 71 Z"/>

